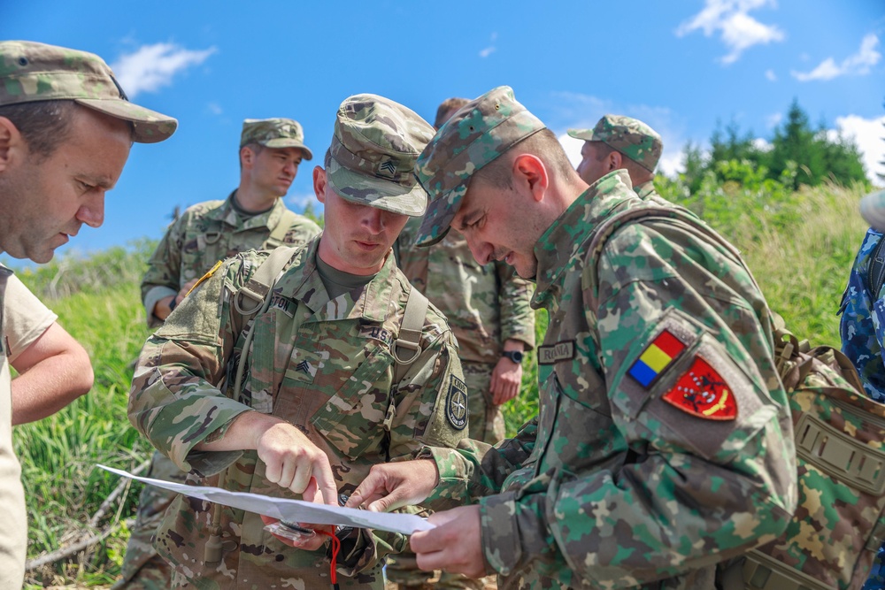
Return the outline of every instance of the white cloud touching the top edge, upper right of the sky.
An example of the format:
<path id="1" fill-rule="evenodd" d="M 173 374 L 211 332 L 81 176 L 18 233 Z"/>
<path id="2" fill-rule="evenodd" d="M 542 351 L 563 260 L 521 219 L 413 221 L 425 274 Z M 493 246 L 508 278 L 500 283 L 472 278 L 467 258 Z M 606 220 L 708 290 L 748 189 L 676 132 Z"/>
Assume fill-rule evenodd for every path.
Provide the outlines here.
<path id="1" fill-rule="evenodd" d="M 773 0 L 706 0 L 704 10 L 683 22 L 676 29 L 676 36 L 682 37 L 698 29 L 704 31 L 706 37 L 720 32 L 722 42 L 729 50 L 721 61 L 732 64 L 753 45 L 784 40 L 780 28 L 765 25 L 748 14 L 766 5 L 774 6 L 775 3 Z"/>

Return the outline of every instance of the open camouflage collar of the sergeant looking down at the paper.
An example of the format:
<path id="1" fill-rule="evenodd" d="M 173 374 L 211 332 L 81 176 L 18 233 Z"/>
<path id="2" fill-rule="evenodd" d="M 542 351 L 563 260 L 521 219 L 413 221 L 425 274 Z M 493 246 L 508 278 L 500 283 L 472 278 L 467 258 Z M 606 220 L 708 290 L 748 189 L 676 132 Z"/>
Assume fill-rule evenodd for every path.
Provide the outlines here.
<path id="1" fill-rule="evenodd" d="M 327 318 L 363 318 L 366 321 L 379 323 L 387 319 L 390 315 L 391 300 L 401 290 L 396 289 L 400 281 L 397 280 L 398 269 L 393 251 L 389 251 L 381 270 L 362 288 L 356 301 L 351 298 L 350 293 L 344 293 L 330 300 L 317 270 L 319 237 L 308 242 L 302 251 L 301 264 L 293 264 L 277 281 L 277 287 L 282 291 L 281 295 L 302 302 L 314 314 L 322 314 Z"/>

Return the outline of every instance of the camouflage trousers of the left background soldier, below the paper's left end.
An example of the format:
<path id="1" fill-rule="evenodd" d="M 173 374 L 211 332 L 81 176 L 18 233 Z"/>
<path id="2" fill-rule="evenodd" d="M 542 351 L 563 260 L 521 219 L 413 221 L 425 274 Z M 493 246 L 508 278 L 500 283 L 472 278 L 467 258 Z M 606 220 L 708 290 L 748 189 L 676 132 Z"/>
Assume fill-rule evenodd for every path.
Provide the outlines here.
<path id="1" fill-rule="evenodd" d="M 187 474 L 159 452 L 154 452 L 148 477 L 184 483 Z M 171 586 L 172 568 L 157 555 L 152 537 L 163 522 L 165 510 L 178 494 L 145 486 L 138 498 L 138 513 L 120 573 L 122 578 L 112 590 L 165 590 Z"/>

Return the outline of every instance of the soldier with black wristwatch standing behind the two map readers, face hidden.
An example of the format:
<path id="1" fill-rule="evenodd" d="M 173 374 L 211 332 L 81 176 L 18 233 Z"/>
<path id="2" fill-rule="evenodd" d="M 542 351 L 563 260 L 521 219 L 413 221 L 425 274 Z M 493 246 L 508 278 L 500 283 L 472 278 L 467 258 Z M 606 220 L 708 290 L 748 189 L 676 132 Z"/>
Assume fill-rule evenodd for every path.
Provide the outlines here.
<path id="1" fill-rule="evenodd" d="M 469 101 L 450 98 L 436 111 L 439 129 Z M 477 264 L 464 236 L 455 232 L 429 248 L 417 248 L 422 218 L 412 218 L 396 240 L 397 263 L 412 287 L 427 295 L 449 320 L 458 339 L 469 402 L 471 439 L 495 444 L 504 440 L 501 406 L 519 395 L 522 354 L 535 347 L 534 286 L 500 261 Z M 413 554 L 392 556 L 387 578 L 405 590 L 428 586 Z M 443 571 L 437 588 L 475 588 L 477 580 Z"/>

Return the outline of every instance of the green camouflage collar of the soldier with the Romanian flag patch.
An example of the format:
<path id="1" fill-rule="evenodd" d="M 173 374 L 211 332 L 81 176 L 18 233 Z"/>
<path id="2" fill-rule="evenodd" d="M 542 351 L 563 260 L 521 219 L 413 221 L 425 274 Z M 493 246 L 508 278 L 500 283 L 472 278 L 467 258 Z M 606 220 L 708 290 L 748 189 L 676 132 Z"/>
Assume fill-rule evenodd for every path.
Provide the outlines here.
<path id="1" fill-rule="evenodd" d="M 581 193 L 535 244 L 538 271 L 532 307 L 545 307 L 550 297 L 558 297 L 566 270 L 581 272 L 596 226 L 615 211 L 642 204 L 626 170 L 609 172 Z"/>

